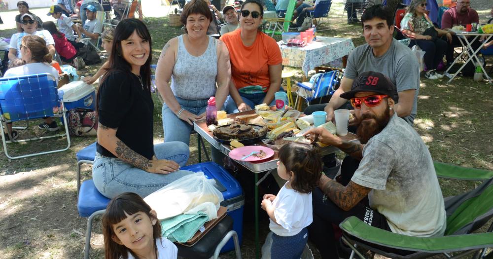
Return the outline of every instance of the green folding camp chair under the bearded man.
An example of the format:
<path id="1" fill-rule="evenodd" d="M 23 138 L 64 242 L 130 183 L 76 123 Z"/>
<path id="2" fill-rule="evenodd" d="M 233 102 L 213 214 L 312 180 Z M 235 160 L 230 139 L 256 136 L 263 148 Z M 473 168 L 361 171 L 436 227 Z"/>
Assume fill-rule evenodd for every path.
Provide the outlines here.
<path id="1" fill-rule="evenodd" d="M 493 252 L 486 255 L 486 251 L 487 248 L 493 247 L 493 223 L 484 233 L 472 232 L 493 218 L 493 171 L 440 162 L 434 162 L 434 165 L 438 177 L 483 181 L 469 192 L 445 199 L 447 213 L 445 235 L 439 237 L 400 235 L 370 226 L 356 217 L 349 217 L 339 226 L 343 230 L 343 242 L 353 250 L 352 256 L 356 254 L 364 259 L 365 257 L 359 252 L 359 248 L 362 248 L 396 259 L 426 258 L 439 254 L 444 254 L 447 258 L 465 256 L 492 258 Z M 397 255 L 384 251 L 385 248 L 411 251 L 411 254 Z"/>

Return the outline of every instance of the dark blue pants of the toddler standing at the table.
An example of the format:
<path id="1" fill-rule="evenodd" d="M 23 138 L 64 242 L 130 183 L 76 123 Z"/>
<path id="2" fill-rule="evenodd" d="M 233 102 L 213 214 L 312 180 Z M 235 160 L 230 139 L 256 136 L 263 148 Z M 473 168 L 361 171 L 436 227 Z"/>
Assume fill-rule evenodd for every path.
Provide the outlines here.
<path id="1" fill-rule="evenodd" d="M 272 233 L 271 259 L 299 259 L 307 241 L 306 227 L 294 236 L 278 236 Z"/>

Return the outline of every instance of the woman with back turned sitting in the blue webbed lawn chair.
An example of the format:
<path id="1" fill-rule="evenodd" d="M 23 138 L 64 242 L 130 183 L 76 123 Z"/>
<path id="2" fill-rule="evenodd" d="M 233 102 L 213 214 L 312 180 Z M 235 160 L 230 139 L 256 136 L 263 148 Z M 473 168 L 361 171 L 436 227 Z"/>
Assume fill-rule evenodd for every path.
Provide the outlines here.
<path id="1" fill-rule="evenodd" d="M 21 54 L 25 65 L 7 70 L 3 77 L 48 73 L 53 75 L 58 85 L 58 71 L 49 65 L 52 57 L 43 38 L 35 35 L 24 36 L 21 41 Z M 38 128 L 48 131 L 57 131 L 59 129 L 56 121 L 52 118 L 45 118 L 44 121 L 44 123 L 38 125 Z M 7 129 L 13 140 L 19 137 L 17 131 L 12 130 L 12 123 L 7 124 Z M 6 140 L 10 140 L 8 134 L 5 134 L 5 137 Z"/>

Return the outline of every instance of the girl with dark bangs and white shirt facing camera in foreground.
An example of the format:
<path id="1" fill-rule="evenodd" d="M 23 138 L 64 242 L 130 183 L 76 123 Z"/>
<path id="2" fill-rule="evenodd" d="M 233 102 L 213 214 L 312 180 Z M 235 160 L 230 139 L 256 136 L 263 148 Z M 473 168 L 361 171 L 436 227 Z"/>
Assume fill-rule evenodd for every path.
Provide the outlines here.
<path id="1" fill-rule="evenodd" d="M 161 237 L 156 212 L 136 193 L 114 197 L 103 216 L 106 259 L 176 259 L 178 249 Z"/>

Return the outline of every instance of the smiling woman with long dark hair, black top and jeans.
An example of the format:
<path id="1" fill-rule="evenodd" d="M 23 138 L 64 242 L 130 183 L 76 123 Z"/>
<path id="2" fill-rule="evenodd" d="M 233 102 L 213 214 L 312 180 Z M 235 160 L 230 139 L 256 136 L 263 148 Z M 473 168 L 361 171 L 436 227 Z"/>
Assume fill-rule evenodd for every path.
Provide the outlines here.
<path id="1" fill-rule="evenodd" d="M 192 173 L 179 169 L 188 160 L 186 144 L 153 145 L 150 49 L 151 37 L 141 21 L 118 24 L 109 70 L 96 98 L 99 126 L 93 179 L 108 198 L 123 192 L 145 197 Z"/>

